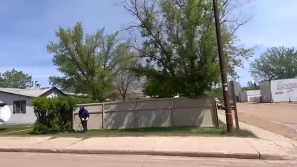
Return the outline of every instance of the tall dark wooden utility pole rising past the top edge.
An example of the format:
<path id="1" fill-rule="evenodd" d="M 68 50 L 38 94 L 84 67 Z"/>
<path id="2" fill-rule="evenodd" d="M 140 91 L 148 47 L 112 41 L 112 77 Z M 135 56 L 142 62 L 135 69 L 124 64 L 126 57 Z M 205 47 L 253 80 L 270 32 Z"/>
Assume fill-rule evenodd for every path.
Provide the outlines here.
<path id="1" fill-rule="evenodd" d="M 214 22 L 215 22 L 215 30 L 216 30 L 216 40 L 217 47 L 219 52 L 219 60 L 220 60 L 220 72 L 222 78 L 223 85 L 223 96 L 224 96 L 224 104 L 225 104 L 225 112 L 226 112 L 226 123 L 227 123 L 227 131 L 233 132 L 233 119 L 231 112 L 231 104 L 228 95 L 228 80 L 227 80 L 227 67 L 224 61 L 224 51 L 223 51 L 223 41 L 220 27 L 220 19 L 219 19 L 219 10 L 217 6 L 217 0 L 213 0 L 213 13 L 214 13 Z"/>

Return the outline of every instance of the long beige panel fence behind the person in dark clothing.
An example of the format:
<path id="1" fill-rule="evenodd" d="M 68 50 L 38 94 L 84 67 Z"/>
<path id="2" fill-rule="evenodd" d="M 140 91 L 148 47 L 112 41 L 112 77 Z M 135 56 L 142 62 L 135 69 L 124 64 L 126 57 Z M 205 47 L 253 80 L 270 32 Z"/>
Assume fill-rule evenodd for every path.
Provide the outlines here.
<path id="1" fill-rule="evenodd" d="M 73 129 L 81 129 L 79 106 L 90 113 L 88 129 L 160 126 L 218 126 L 213 97 L 168 98 L 145 101 L 79 104 L 73 111 Z"/>

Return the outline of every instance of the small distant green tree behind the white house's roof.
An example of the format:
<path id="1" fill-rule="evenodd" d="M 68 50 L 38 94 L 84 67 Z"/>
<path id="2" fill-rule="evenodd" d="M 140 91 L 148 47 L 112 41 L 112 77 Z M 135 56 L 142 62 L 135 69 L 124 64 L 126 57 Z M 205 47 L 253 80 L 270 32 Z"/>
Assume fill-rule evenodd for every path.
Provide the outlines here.
<path id="1" fill-rule="evenodd" d="M 0 74 L 0 87 L 25 89 L 32 87 L 32 77 L 14 68 Z"/>

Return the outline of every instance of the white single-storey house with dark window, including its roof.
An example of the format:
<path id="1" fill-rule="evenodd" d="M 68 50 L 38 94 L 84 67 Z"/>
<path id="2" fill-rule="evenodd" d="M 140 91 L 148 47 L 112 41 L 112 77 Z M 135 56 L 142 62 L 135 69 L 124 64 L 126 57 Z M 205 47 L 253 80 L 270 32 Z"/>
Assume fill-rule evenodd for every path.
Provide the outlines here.
<path id="1" fill-rule="evenodd" d="M 66 96 L 56 87 L 17 89 L 0 87 L 0 100 L 8 105 L 11 117 L 5 125 L 33 124 L 36 121 L 32 106 L 35 97 Z"/>

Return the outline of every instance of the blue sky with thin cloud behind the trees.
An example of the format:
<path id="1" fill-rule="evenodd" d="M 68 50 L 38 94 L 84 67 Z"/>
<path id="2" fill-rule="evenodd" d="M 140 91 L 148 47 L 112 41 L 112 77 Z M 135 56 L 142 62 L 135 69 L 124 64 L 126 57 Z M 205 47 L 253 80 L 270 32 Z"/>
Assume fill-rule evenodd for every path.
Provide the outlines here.
<path id="1" fill-rule="evenodd" d="M 48 86 L 48 77 L 60 75 L 46 51 L 49 41 L 56 41 L 55 30 L 81 21 L 86 33 L 106 27 L 106 33 L 122 28 L 133 18 L 114 5 L 121 0 L 0 0 L 0 72 L 22 70 Z M 297 0 L 254 0 L 242 7 L 252 20 L 236 35 L 240 45 L 257 45 L 255 55 L 237 68 L 240 83 L 251 80 L 249 62 L 268 47 L 297 46 Z M 295 16 L 294 16 L 295 15 Z"/>

